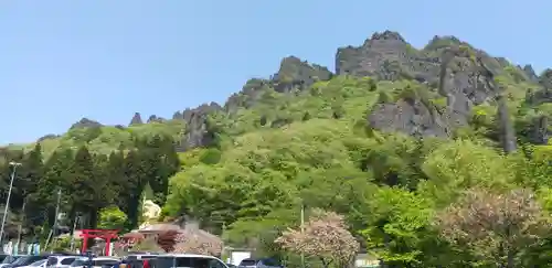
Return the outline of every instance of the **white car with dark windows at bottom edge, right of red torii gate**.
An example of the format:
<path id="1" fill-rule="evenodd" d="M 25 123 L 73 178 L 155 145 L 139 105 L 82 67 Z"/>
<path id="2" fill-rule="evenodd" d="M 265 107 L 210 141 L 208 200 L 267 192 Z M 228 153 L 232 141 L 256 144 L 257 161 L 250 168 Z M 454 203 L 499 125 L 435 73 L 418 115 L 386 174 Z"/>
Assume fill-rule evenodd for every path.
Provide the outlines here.
<path id="1" fill-rule="evenodd" d="M 152 259 L 151 262 L 153 267 L 190 267 L 190 268 L 229 268 L 221 259 L 208 256 L 208 255 L 195 255 L 195 254 L 169 254 L 160 255 Z"/>

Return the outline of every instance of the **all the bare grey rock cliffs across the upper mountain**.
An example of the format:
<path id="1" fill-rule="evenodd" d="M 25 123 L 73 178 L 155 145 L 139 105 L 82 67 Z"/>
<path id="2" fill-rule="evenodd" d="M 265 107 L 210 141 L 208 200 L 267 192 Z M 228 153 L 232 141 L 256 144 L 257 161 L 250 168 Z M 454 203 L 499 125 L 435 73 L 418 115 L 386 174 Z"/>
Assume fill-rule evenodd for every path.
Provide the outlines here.
<path id="1" fill-rule="evenodd" d="M 497 77 L 510 75 L 517 83 L 540 85 L 528 94 L 528 105 L 552 103 L 552 69 L 538 76 L 531 65 L 511 65 L 503 57 L 493 57 L 455 36 L 434 36 L 423 49 L 413 47 L 400 33 L 374 33 L 360 46 L 338 49 L 336 72 L 309 64 L 295 56 L 285 57 L 276 74 L 269 78 L 252 78 L 240 93 L 232 95 L 223 107 L 201 105 L 177 111 L 173 119 L 187 122 L 187 133 L 180 150 L 213 143 L 208 121 L 213 112 L 233 114 L 238 108 L 256 105 L 267 90 L 301 92 L 318 81 L 333 75 L 370 76 L 379 81 L 413 79 L 433 92 L 432 99 L 417 88 L 391 101 L 380 101 L 367 115 L 368 125 L 382 131 L 400 131 L 416 137 L 449 138 L 459 127 L 467 126 L 473 107 L 492 104 L 497 107 L 497 129 L 506 151 L 516 149 L 516 133 L 510 121 L 506 89 Z M 436 105 L 436 99 L 444 104 Z M 153 120 L 150 118 L 150 121 Z M 548 137 L 543 130 L 546 119 L 535 119 L 540 140 Z M 544 133 L 543 133 L 544 132 Z M 548 140 L 548 138 L 546 138 Z"/>

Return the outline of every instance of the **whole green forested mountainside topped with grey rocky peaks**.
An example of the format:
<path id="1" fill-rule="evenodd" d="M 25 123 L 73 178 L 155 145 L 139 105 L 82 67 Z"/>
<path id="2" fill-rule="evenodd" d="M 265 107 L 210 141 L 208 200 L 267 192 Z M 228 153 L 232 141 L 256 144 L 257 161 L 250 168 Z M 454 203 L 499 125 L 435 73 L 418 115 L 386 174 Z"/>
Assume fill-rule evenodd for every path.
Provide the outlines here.
<path id="1" fill-rule="evenodd" d="M 4 148 L 3 190 L 8 163 L 22 163 L 9 235 L 21 221 L 25 237 L 43 235 L 55 189 L 70 218 L 95 226 L 117 205 L 135 227 L 146 189 L 164 218 L 185 214 L 267 255 L 305 206 L 344 215 L 362 249 L 396 267 L 546 267 L 551 90 L 552 69 L 456 37 L 418 50 L 375 33 L 339 49 L 336 72 L 286 57 L 222 106 L 128 127 L 83 119 Z"/>

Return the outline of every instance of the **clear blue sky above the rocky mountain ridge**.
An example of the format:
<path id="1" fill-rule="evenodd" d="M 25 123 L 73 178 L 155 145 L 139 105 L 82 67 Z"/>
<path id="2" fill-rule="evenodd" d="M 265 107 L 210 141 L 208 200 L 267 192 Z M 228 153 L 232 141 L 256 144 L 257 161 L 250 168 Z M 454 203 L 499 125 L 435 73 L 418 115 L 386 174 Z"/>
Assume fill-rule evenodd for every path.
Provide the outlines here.
<path id="1" fill-rule="evenodd" d="M 449 11 L 452 10 L 452 11 Z M 333 69 L 375 31 L 414 46 L 456 35 L 552 66 L 550 0 L 11 0 L 0 2 L 0 144 L 64 132 L 82 117 L 128 124 L 224 101 L 296 55 Z"/>

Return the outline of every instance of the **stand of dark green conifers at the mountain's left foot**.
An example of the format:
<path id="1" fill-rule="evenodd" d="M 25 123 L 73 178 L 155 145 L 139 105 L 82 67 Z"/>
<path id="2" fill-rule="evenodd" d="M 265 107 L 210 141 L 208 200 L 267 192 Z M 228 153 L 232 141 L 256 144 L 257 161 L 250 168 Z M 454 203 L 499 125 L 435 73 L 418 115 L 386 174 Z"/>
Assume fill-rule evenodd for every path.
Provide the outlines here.
<path id="1" fill-rule="evenodd" d="M 86 146 L 60 148 L 47 158 L 40 142 L 29 152 L 8 151 L 1 173 L 3 193 L 11 174 L 15 175 L 8 237 L 15 237 L 22 225 L 28 239 L 46 238 L 54 227 L 57 204 L 65 221 L 57 223 L 54 234 L 67 232 L 74 224 L 96 228 L 99 212 L 115 206 L 128 219 L 126 229 L 138 226 L 144 194 L 148 192 L 153 202 L 164 204 L 169 178 L 180 169 L 180 162 L 171 138 L 136 139 L 134 146 L 134 150 L 110 154 L 91 153 Z M 10 162 L 20 163 L 14 173 Z"/>

